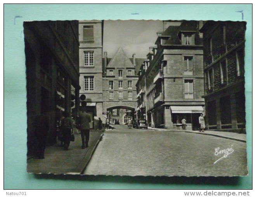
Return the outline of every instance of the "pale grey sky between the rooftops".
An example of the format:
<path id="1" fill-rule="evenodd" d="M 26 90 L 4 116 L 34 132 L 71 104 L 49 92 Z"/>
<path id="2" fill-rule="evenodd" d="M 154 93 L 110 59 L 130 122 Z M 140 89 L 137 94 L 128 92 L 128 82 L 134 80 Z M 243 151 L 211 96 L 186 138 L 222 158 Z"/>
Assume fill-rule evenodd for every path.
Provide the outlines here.
<path id="1" fill-rule="evenodd" d="M 128 58 L 133 53 L 136 58 L 147 58 L 159 31 L 163 31 L 162 20 L 104 20 L 103 52 L 112 58 L 121 47 Z"/>

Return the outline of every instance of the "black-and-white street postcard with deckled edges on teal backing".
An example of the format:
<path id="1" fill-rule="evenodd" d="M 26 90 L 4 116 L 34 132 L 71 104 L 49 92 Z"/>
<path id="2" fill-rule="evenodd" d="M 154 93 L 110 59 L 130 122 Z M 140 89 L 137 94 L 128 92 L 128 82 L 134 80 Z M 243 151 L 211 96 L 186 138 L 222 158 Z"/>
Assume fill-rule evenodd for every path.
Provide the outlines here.
<path id="1" fill-rule="evenodd" d="M 25 21 L 27 172 L 247 176 L 245 21 Z"/>

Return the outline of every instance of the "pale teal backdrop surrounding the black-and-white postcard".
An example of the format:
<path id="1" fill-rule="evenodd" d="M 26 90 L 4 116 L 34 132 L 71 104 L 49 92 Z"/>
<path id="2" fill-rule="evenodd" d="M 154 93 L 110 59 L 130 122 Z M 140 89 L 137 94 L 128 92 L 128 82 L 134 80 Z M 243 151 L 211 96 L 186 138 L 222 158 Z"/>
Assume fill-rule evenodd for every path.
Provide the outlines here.
<path id="1" fill-rule="evenodd" d="M 32 20 L 242 20 L 246 30 L 247 177 L 120 177 L 26 173 L 23 22 Z M 131 15 L 138 13 L 138 15 Z M 22 16 L 16 18 L 15 16 Z M 5 4 L 4 189 L 252 189 L 252 4 Z"/>

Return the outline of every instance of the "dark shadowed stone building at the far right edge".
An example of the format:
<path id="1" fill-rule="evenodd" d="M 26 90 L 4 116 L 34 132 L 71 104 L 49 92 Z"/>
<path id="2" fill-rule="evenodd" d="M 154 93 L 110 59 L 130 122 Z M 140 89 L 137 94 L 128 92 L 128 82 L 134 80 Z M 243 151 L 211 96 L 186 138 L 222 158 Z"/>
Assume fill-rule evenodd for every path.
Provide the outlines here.
<path id="1" fill-rule="evenodd" d="M 231 21 L 207 21 L 201 29 L 208 129 L 240 132 L 245 128 L 245 31 L 246 22 Z"/>

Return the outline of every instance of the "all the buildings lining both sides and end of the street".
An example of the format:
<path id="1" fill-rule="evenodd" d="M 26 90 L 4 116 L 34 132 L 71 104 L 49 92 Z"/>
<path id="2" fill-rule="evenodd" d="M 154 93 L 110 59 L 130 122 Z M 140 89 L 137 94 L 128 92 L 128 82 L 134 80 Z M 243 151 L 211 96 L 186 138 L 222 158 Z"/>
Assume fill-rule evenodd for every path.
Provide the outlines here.
<path id="1" fill-rule="evenodd" d="M 245 128 L 246 22 L 163 21 L 147 58 L 119 48 L 103 53 L 104 20 L 24 22 L 28 155 L 36 146 L 35 116 L 50 119 L 48 144 L 56 143 L 62 112 L 77 119 L 86 97 L 91 129 L 99 118 L 146 119 L 151 127 Z"/>

